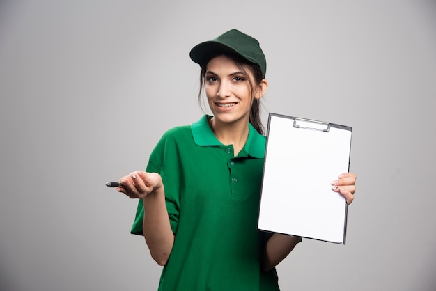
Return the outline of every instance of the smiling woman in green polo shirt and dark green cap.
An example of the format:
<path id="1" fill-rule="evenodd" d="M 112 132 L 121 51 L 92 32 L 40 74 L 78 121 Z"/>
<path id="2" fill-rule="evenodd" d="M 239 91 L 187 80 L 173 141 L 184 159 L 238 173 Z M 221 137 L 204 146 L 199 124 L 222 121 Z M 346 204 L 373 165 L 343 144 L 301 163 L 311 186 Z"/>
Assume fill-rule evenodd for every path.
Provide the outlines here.
<path id="1" fill-rule="evenodd" d="M 235 29 L 196 45 L 212 116 L 170 129 L 146 172 L 117 190 L 141 198 L 132 233 L 164 266 L 159 290 L 279 290 L 275 266 L 299 237 L 257 230 L 265 136 L 260 98 L 266 61 L 258 41 Z M 332 182 L 347 203 L 356 176 Z"/>

